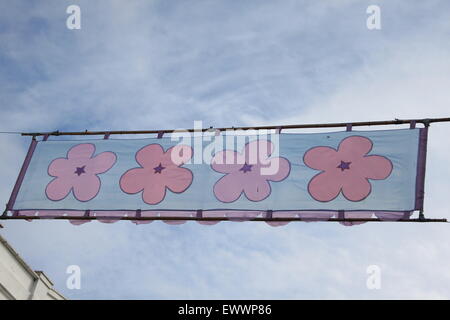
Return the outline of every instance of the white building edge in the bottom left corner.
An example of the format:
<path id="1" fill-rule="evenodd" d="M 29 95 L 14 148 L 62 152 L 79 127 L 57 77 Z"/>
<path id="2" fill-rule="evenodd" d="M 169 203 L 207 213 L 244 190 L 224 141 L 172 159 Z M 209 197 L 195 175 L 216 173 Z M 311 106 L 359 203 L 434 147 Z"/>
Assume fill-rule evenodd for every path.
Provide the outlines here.
<path id="1" fill-rule="evenodd" d="M 0 300 L 65 300 L 42 271 L 33 271 L 0 235 Z"/>

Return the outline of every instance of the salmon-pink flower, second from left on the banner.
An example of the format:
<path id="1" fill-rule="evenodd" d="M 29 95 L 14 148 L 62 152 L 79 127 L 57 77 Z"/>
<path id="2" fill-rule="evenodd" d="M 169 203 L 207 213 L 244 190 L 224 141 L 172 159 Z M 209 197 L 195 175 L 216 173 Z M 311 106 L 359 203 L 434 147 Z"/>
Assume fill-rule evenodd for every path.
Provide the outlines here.
<path id="1" fill-rule="evenodd" d="M 178 145 L 166 152 L 159 144 L 150 144 L 136 153 L 141 166 L 125 172 L 120 178 L 120 188 L 129 194 L 142 192 L 142 200 L 158 204 L 166 196 L 166 189 L 182 193 L 192 183 L 192 172 L 181 166 L 192 157 L 192 148 Z"/>

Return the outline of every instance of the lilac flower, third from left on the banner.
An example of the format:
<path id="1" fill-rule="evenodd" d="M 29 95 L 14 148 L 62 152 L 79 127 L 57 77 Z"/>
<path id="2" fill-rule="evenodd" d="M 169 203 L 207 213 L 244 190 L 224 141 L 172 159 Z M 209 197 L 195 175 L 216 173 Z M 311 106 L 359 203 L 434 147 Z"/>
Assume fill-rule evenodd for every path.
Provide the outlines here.
<path id="1" fill-rule="evenodd" d="M 236 201 L 242 193 L 251 201 L 261 201 L 271 193 L 269 181 L 282 181 L 290 172 L 289 161 L 270 158 L 274 146 L 267 140 L 245 145 L 242 152 L 224 150 L 214 155 L 211 167 L 225 173 L 214 185 L 214 195 L 222 202 Z"/>

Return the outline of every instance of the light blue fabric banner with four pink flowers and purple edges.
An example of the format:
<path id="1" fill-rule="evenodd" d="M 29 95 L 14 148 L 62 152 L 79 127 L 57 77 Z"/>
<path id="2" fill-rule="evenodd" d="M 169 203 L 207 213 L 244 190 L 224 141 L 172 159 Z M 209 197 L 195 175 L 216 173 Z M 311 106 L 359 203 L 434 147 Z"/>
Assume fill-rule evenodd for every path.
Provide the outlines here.
<path id="1" fill-rule="evenodd" d="M 123 216 L 198 217 L 204 224 L 216 222 L 202 217 L 406 219 L 423 207 L 426 138 L 427 128 L 414 128 L 33 140 L 7 210 L 103 222 Z"/>

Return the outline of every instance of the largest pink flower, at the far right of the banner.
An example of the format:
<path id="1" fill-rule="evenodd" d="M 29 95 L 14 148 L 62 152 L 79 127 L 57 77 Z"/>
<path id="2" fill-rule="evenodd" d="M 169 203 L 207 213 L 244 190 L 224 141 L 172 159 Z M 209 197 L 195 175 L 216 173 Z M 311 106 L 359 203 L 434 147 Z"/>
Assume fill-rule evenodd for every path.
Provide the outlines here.
<path id="1" fill-rule="evenodd" d="M 304 163 L 322 172 L 308 184 L 317 201 L 331 201 L 342 191 L 347 200 L 361 201 L 371 192 L 369 179 L 383 180 L 392 172 L 392 162 L 383 156 L 367 155 L 372 141 L 360 136 L 343 139 L 338 150 L 315 147 L 307 151 Z"/>

